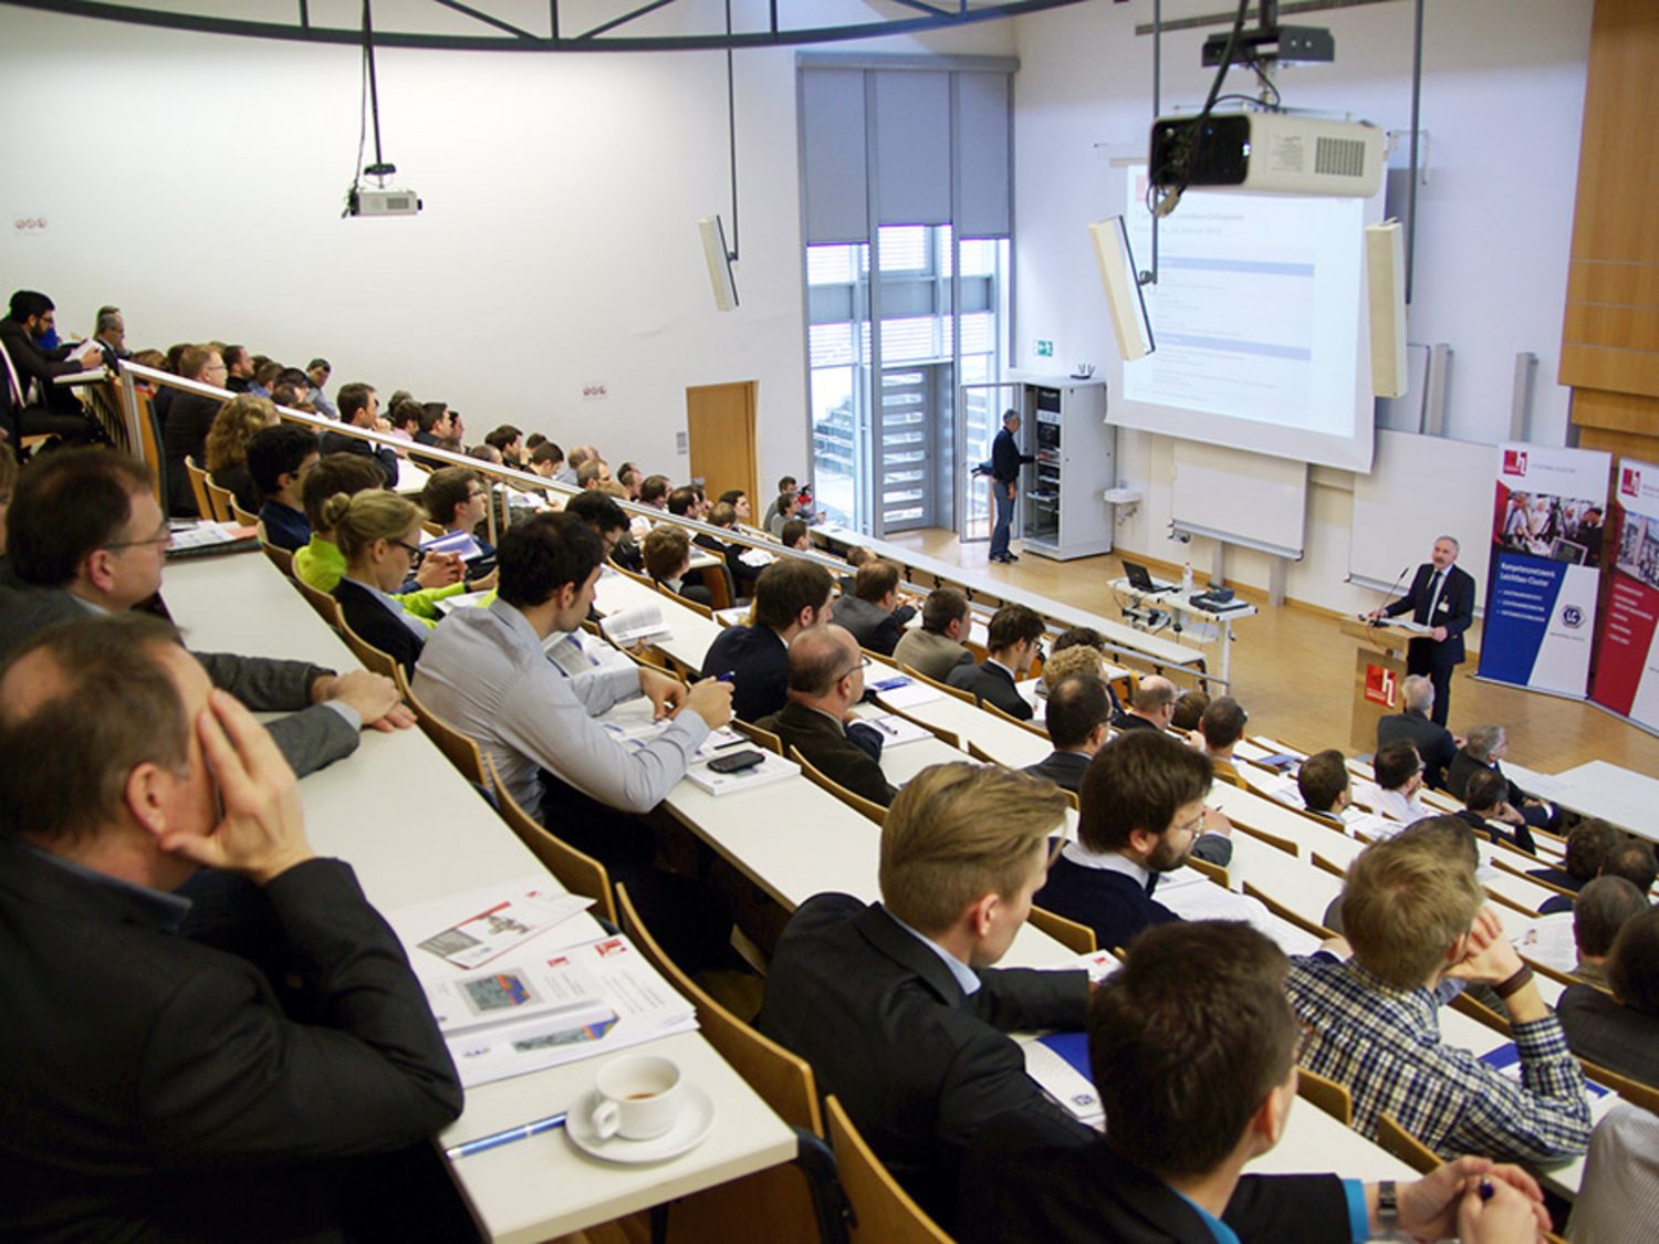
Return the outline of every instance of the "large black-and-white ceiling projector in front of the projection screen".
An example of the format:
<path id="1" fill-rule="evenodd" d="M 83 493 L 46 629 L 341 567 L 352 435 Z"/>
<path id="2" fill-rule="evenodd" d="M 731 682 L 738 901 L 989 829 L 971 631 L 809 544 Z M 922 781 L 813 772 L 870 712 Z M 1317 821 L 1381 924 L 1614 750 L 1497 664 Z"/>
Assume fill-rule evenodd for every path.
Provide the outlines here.
<path id="1" fill-rule="evenodd" d="M 1382 186 L 1387 134 L 1369 121 L 1294 113 L 1160 116 L 1148 176 L 1171 194 L 1226 187 L 1365 199 Z"/>

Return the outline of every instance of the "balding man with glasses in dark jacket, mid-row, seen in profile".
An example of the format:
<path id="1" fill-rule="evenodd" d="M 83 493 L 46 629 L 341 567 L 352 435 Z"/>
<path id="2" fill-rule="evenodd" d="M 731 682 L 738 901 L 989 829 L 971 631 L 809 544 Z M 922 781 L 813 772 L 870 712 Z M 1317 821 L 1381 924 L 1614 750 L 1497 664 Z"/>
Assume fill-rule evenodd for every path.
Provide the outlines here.
<path id="1" fill-rule="evenodd" d="M 864 662 L 846 627 L 810 627 L 790 640 L 790 702 L 755 725 L 800 748 L 831 781 L 883 808 L 898 791 L 881 771 L 881 733 L 848 722 L 864 698 Z"/>

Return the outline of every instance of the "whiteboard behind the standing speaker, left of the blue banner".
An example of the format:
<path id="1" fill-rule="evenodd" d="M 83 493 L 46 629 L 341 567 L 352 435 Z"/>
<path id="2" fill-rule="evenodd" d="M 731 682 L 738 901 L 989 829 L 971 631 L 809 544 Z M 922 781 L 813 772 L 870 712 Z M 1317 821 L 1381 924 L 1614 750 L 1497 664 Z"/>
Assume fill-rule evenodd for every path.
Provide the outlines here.
<path id="1" fill-rule="evenodd" d="M 1379 428 L 1370 474 L 1354 476 L 1349 582 L 1387 592 L 1452 536 L 1485 595 L 1496 459 L 1491 445 Z"/>

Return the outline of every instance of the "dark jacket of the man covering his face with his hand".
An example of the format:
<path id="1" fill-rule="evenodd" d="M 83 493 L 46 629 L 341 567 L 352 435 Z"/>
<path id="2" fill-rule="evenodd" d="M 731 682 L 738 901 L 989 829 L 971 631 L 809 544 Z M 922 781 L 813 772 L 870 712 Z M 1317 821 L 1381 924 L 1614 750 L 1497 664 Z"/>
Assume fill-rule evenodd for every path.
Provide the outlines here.
<path id="1" fill-rule="evenodd" d="M 330 1161 L 460 1113 L 425 992 L 348 866 L 264 887 L 317 1017 L 297 1023 L 153 892 L 0 856 L 0 1236 L 333 1237 Z"/>

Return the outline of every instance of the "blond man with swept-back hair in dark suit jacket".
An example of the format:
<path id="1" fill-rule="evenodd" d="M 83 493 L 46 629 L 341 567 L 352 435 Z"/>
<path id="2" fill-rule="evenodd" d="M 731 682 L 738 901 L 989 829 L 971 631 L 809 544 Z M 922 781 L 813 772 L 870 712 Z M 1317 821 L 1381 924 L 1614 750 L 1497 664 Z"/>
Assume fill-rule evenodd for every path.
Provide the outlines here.
<path id="1" fill-rule="evenodd" d="M 957 1164 L 980 1130 L 1030 1120 L 1050 1143 L 1093 1135 L 1004 1035 L 1080 1028 L 1088 975 L 989 970 L 1025 922 L 1063 821 L 1065 798 L 1024 773 L 924 770 L 881 831 L 883 902 L 810 899 L 771 959 L 760 1030 L 813 1065 L 947 1231 Z"/>

